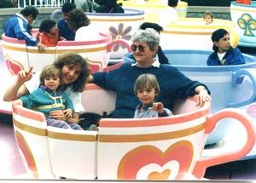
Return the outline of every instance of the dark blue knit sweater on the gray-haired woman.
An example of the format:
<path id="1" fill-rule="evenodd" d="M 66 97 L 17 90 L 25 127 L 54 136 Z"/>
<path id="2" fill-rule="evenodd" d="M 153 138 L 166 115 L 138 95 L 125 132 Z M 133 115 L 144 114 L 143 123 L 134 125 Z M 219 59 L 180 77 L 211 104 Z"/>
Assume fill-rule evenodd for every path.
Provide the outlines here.
<path id="1" fill-rule="evenodd" d="M 132 118 L 140 101 L 133 92 L 134 83 L 138 76 L 143 73 L 151 73 L 157 77 L 160 83 L 160 95 L 157 101 L 172 111 L 173 101 L 186 99 L 195 95 L 195 87 L 203 85 L 197 81 L 191 81 L 177 68 L 170 65 L 160 65 L 159 68 L 139 68 L 125 63 L 119 69 L 109 72 L 96 72 L 93 74 L 94 83 L 103 89 L 113 90 L 117 93 L 117 100 L 113 117 Z M 205 86 L 206 87 L 206 86 Z M 207 87 L 206 87 L 207 88 Z"/>

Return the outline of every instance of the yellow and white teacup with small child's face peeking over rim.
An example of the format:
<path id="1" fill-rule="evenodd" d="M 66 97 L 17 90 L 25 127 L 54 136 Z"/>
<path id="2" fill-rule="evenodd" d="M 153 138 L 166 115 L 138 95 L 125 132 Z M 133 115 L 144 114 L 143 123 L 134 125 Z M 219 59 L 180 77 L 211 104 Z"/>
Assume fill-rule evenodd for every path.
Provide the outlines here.
<path id="1" fill-rule="evenodd" d="M 236 47 L 239 36 L 233 21 L 214 19 L 206 25 L 202 18 L 179 18 L 176 24 L 164 26 L 160 45 L 162 49 L 212 50 L 212 32 L 220 28 L 229 31 L 231 46 Z"/>

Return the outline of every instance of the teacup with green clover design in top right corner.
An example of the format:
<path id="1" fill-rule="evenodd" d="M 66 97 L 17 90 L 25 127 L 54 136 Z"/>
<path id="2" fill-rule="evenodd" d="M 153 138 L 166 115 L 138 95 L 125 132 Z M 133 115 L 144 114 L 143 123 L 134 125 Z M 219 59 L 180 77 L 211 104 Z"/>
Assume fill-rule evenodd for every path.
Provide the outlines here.
<path id="1" fill-rule="evenodd" d="M 236 1 L 238 2 L 238 1 Z M 256 47 L 256 2 L 231 2 L 230 15 L 239 33 L 239 46 Z"/>

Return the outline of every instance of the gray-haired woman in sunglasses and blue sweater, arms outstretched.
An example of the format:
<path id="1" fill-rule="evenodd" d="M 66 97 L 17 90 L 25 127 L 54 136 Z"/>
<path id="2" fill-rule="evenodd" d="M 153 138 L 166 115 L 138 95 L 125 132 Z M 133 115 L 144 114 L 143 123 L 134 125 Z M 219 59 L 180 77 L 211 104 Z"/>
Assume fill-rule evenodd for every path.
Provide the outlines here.
<path id="1" fill-rule="evenodd" d="M 96 72 L 90 75 L 90 83 L 117 93 L 113 117 L 132 118 L 140 101 L 133 92 L 137 77 L 144 73 L 153 74 L 160 83 L 161 93 L 157 101 L 172 111 L 173 102 L 198 94 L 198 106 L 212 100 L 207 86 L 185 77 L 177 68 L 161 64 L 155 60 L 160 43 L 160 35 L 154 29 L 137 31 L 132 39 L 131 50 L 135 63 L 124 63 L 118 69 Z"/>

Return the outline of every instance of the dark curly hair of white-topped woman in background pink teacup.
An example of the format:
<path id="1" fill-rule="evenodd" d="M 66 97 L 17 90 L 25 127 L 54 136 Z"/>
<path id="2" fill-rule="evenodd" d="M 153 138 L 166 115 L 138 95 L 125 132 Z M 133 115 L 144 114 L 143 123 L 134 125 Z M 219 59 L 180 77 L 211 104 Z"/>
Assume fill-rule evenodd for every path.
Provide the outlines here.
<path id="1" fill-rule="evenodd" d="M 67 24 L 73 31 L 77 31 L 82 26 L 89 26 L 90 19 L 87 17 L 84 11 L 73 9 L 68 14 Z"/>

